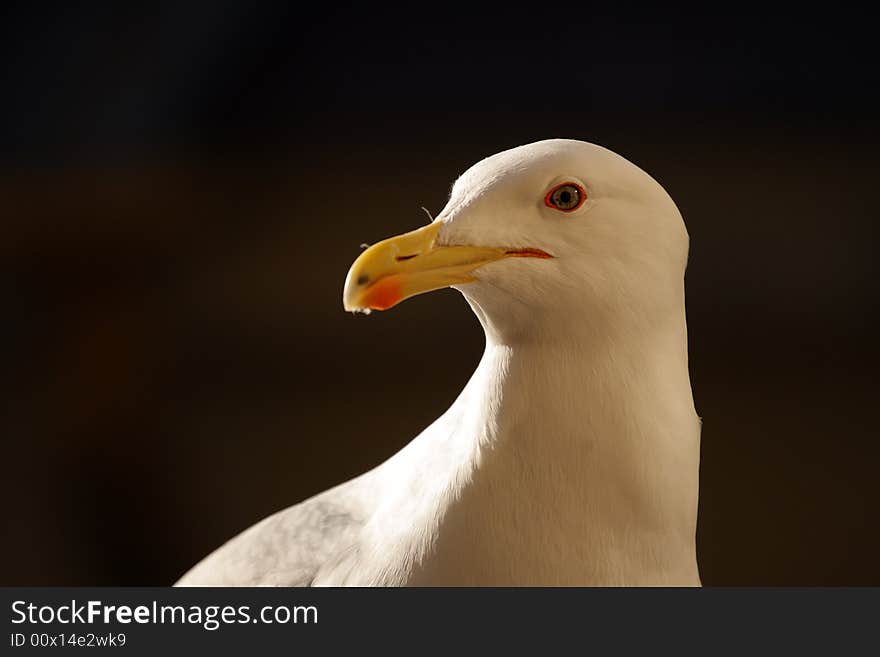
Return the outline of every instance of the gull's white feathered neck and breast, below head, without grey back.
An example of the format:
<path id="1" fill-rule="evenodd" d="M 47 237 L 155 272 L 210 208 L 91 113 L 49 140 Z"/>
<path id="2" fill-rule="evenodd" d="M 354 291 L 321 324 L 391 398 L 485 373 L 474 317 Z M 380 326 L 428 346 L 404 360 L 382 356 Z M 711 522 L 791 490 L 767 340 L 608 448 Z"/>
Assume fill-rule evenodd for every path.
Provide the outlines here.
<path id="1" fill-rule="evenodd" d="M 458 400 L 383 466 L 368 540 L 375 556 L 410 556 L 366 579 L 699 585 L 683 310 L 626 338 L 489 335 Z"/>

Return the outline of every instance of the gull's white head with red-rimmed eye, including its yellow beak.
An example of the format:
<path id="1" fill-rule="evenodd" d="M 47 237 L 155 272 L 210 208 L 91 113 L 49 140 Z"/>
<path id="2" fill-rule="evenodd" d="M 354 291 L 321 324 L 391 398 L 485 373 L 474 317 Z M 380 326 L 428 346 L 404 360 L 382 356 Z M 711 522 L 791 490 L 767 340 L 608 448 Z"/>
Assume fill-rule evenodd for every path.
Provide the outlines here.
<path id="1" fill-rule="evenodd" d="M 549 139 L 478 162 L 429 225 L 365 250 L 343 305 L 386 310 L 453 287 L 500 340 L 631 326 L 683 310 L 687 251 L 651 176 L 601 146 Z"/>

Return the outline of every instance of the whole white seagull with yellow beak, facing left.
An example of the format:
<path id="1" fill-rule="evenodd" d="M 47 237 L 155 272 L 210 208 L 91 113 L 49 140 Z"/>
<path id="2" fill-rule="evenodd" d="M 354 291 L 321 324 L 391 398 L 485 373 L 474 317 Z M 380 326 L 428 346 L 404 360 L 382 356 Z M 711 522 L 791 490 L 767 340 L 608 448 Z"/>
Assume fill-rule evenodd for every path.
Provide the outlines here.
<path id="1" fill-rule="evenodd" d="M 486 346 L 458 398 L 178 585 L 700 586 L 688 246 L 660 184 L 601 146 L 478 162 L 430 224 L 363 251 L 343 290 L 355 312 L 460 291 Z"/>

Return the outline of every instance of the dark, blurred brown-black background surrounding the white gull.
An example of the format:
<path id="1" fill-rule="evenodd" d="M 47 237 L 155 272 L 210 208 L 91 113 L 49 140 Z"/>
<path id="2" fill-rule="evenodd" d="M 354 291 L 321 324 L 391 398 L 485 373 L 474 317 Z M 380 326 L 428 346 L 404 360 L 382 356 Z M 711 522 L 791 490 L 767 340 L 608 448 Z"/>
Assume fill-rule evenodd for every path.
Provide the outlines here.
<path id="1" fill-rule="evenodd" d="M 704 583 L 880 584 L 866 16 L 74 4 L 0 10 L 0 583 L 170 583 L 394 453 L 483 338 L 345 314 L 358 245 L 559 136 L 688 224 Z"/>

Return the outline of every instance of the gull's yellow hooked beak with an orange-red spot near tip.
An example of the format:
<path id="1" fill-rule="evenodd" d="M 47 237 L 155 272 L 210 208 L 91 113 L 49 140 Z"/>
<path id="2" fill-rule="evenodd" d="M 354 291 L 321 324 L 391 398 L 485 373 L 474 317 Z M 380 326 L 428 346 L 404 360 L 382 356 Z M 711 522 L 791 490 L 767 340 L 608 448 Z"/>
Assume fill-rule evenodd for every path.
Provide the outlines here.
<path id="1" fill-rule="evenodd" d="M 540 249 L 436 246 L 440 222 L 374 244 L 345 278 L 346 310 L 387 310 L 423 292 L 476 280 L 473 271 L 502 258 L 551 258 Z"/>

